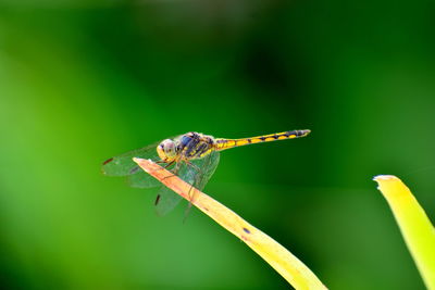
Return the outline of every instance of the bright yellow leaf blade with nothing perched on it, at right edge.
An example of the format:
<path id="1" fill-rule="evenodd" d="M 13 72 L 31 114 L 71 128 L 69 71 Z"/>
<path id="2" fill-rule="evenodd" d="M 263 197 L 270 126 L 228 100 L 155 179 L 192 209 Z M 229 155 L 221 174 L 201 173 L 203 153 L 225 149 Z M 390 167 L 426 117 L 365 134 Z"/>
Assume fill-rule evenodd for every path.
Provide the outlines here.
<path id="1" fill-rule="evenodd" d="M 431 220 L 399 178 L 380 175 L 374 180 L 395 215 L 426 287 L 435 289 L 435 229 Z"/>

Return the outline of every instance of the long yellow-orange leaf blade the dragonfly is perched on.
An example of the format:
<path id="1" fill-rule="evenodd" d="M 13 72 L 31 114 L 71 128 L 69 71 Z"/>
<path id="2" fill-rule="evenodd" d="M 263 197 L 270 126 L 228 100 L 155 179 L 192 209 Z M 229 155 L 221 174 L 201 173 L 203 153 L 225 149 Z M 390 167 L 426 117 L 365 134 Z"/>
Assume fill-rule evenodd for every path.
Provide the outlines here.
<path id="1" fill-rule="evenodd" d="M 225 205 L 192 188 L 183 179 L 149 160 L 133 160 L 148 174 L 191 202 L 226 230 L 240 238 L 293 287 L 296 289 L 326 289 L 319 278 L 295 255 Z"/>

